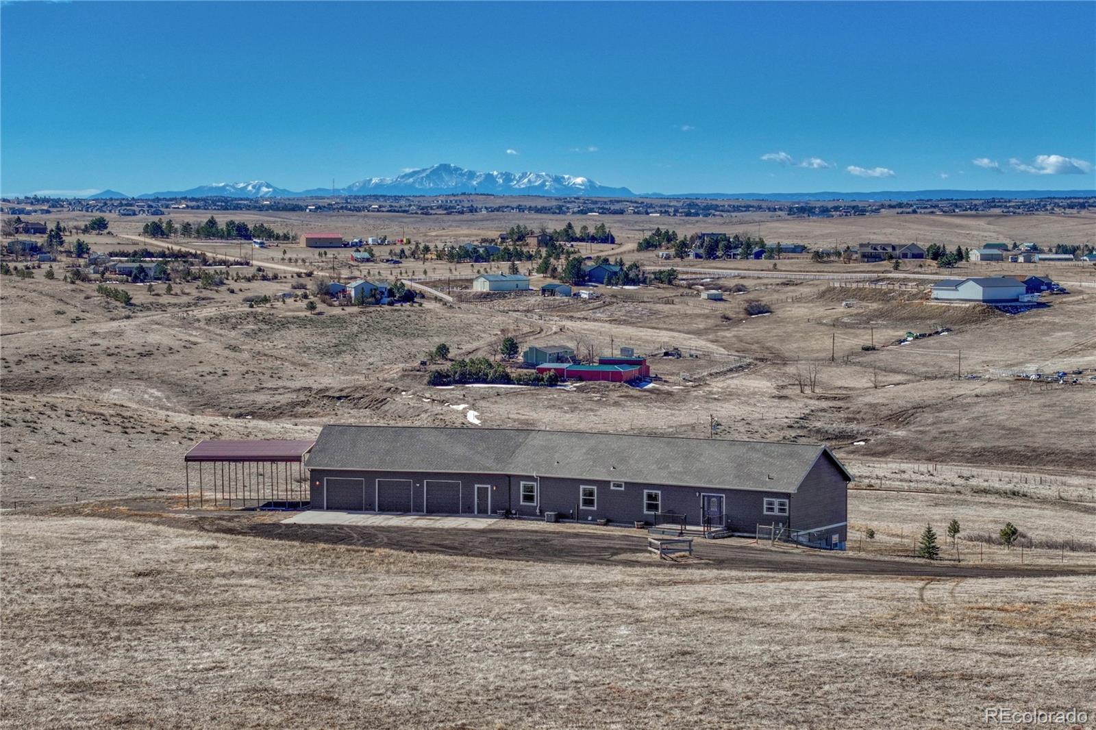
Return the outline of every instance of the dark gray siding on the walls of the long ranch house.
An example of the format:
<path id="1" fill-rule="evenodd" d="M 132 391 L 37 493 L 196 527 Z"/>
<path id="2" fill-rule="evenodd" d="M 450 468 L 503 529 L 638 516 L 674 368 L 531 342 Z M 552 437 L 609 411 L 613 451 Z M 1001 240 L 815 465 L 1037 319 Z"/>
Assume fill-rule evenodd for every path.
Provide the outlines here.
<path id="1" fill-rule="evenodd" d="M 644 513 L 643 492 L 658 491 L 661 494 L 661 512 L 684 514 L 688 524 L 701 522 L 701 495 L 722 494 L 723 511 L 728 526 L 734 532 L 754 534 L 756 526 L 787 525 L 796 528 L 811 528 L 845 522 L 845 481 L 837 468 L 825 457 L 811 469 L 799 493 L 765 492 L 735 489 L 711 489 L 700 487 L 669 487 L 665 484 L 625 482 L 623 490 L 612 489 L 610 482 L 598 479 L 536 478 L 533 475 L 488 475 L 488 474 L 438 474 L 438 472 L 393 472 L 393 471 L 333 471 L 313 469 L 312 482 L 323 483 L 326 477 L 365 479 L 366 510 L 373 510 L 377 480 L 410 480 L 380 482 L 380 512 L 423 512 L 423 487 L 426 484 L 426 509 L 431 513 L 475 514 L 476 486 L 488 484 L 491 497 L 491 514 L 500 510 L 525 517 L 539 517 L 545 512 L 557 512 L 563 518 L 596 521 L 607 518 L 614 523 L 653 522 L 654 515 Z M 536 482 L 537 503 L 522 504 L 523 481 Z M 329 484 L 331 481 L 329 480 Z M 355 482 L 357 483 L 357 482 Z M 596 489 L 597 504 L 592 510 L 581 506 L 582 486 Z M 409 495 L 410 491 L 410 495 Z M 387 495 L 387 497 L 386 497 Z M 768 515 L 764 512 L 766 498 L 789 501 L 788 515 Z M 361 500 L 358 500 L 361 501 Z M 408 505 L 410 504 L 410 509 Z M 318 499 L 315 509 L 322 509 Z M 329 487 L 329 509 L 350 509 L 334 504 Z M 484 513 L 481 507 L 480 513 Z M 840 531 L 844 540 L 845 528 Z"/>

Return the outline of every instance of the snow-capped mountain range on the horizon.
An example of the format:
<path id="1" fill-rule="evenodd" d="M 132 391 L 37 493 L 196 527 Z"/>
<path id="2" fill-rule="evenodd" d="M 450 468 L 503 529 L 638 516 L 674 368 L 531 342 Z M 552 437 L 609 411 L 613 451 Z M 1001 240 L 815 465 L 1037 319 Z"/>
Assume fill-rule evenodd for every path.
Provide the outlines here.
<path id="1" fill-rule="evenodd" d="M 395 178 L 366 178 L 345 187 L 313 187 L 289 191 L 256 180 L 246 183 L 214 183 L 190 190 L 142 193 L 137 197 L 302 197 L 311 195 L 447 195 L 490 193 L 494 195 L 592 195 L 633 197 L 627 187 L 609 187 L 589 178 L 557 175 L 547 172 L 479 172 L 455 164 L 434 164 L 409 170 Z"/>

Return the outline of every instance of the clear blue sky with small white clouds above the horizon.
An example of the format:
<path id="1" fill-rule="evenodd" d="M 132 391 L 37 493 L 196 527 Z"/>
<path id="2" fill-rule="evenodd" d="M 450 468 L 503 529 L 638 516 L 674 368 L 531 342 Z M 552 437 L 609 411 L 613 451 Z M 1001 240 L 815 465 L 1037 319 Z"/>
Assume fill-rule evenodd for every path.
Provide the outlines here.
<path id="1" fill-rule="evenodd" d="M 1096 3 L 0 5 L 4 193 L 1096 187 Z"/>

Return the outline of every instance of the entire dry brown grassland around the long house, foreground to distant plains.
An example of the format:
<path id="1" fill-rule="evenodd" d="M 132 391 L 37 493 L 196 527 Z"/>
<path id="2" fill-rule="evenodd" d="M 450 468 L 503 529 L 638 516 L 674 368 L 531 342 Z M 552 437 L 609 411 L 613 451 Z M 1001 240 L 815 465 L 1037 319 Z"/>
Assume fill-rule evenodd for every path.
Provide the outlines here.
<path id="1" fill-rule="evenodd" d="M 406 231 L 429 242 L 567 221 L 502 214 L 217 217 L 347 237 Z M 680 232 L 755 235 L 757 218 L 598 223 L 617 233 L 613 255 L 658 265 L 652 252 L 633 246 L 652 221 Z M 95 250 L 133 249 L 144 244 L 127 238 L 141 223 L 112 218 L 116 235 L 88 238 Z M 967 247 L 1091 242 L 1096 218 L 760 223 L 768 240 L 916 238 Z M 238 253 L 236 246 L 179 244 Z M 722 303 L 700 300 L 688 286 L 660 286 L 601 287 L 602 297 L 589 301 L 500 296 L 446 306 L 426 298 L 413 307 L 321 306 L 321 315 L 292 299 L 249 308 L 247 296 L 309 282 L 296 276 L 306 270 L 426 270 L 467 281 L 488 267 L 427 261 L 355 270 L 345 252 L 333 259 L 296 246 L 282 250 L 243 251 L 278 273 L 275 281 L 186 284 L 171 294 L 160 284 L 152 293 L 127 286 L 129 307 L 96 295 L 94 284 L 45 280 L 42 270 L 31 280 L 0 278 L 5 725 L 973 727 L 990 704 L 1091 704 L 1096 606 L 1087 574 L 961 580 L 681 570 L 638 555 L 619 564 L 534 564 L 203 534 L 174 523 L 73 516 L 67 506 L 171 500 L 183 490 L 183 453 L 208 437 L 310 437 L 331 422 L 475 427 L 469 411 L 484 426 L 699 436 L 713 417 L 720 438 L 827 443 L 857 476 L 848 498 L 854 556 L 905 555 L 926 522 L 943 535 L 958 518 L 964 561 L 982 549 L 987 563 L 1014 566 L 1015 552 L 982 546 L 986 533 L 1011 521 L 1034 541 L 1026 566 L 1091 568 L 1091 269 L 1039 266 L 1077 284 L 1049 297 L 1051 306 L 1015 317 L 929 304 L 931 280 L 916 276 L 887 275 L 890 288 L 779 276 L 882 277 L 887 270 L 806 258 L 781 260 L 776 272 L 768 261 L 733 262 L 743 275 L 696 283 L 728 289 Z M 968 264 L 958 273 L 997 269 Z M 733 284 L 747 292 L 732 294 Z M 749 317 L 745 300 L 773 312 Z M 906 331 L 937 327 L 950 331 L 897 344 Z M 419 362 L 426 350 L 445 342 L 452 357 L 494 357 L 505 335 L 523 347 L 680 347 L 684 356 L 652 358 L 660 379 L 644 388 L 425 385 Z M 876 350 L 863 350 L 872 343 Z M 1080 383 L 1008 375 L 1058 369 L 1081 369 Z M 865 537 L 869 528 L 874 540 Z"/>

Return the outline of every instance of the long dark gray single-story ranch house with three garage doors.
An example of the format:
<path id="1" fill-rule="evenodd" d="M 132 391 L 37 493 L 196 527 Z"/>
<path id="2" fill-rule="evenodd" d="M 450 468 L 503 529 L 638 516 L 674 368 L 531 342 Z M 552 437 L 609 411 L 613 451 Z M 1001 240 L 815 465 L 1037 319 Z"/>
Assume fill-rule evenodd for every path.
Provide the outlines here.
<path id="1" fill-rule="evenodd" d="M 842 546 L 853 479 L 825 446 L 518 429 L 327 425 L 307 461 L 313 510 L 509 512 L 757 525 Z"/>

